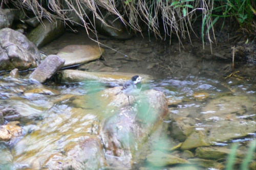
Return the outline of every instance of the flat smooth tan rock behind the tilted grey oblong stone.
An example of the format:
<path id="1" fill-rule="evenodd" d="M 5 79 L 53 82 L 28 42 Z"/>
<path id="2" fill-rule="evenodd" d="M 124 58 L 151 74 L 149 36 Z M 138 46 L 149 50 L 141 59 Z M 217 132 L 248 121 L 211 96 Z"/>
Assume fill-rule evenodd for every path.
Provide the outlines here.
<path id="1" fill-rule="evenodd" d="M 103 53 L 104 49 L 97 45 L 68 45 L 57 55 L 65 60 L 63 67 L 67 67 L 99 59 Z"/>

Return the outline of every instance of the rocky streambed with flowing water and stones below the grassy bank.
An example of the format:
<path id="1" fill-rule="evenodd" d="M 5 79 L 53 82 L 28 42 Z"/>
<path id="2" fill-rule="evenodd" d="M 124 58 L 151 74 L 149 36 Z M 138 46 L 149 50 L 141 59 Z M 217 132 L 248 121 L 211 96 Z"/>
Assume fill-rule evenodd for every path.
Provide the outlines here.
<path id="1" fill-rule="evenodd" d="M 46 56 L 21 33 L 0 37 L 1 169 L 223 169 L 232 143 L 239 169 L 255 142 L 255 65 L 231 74 L 231 45 L 199 55 L 139 36 L 100 45 L 80 30 L 39 48 Z M 129 105 L 115 94 L 134 75 Z"/>

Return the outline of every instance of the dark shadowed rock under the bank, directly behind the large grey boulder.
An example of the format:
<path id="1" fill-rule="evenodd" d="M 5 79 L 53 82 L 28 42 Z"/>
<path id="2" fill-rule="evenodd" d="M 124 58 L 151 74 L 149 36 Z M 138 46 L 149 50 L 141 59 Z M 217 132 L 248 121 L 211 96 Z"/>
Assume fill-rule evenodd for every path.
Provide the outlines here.
<path id="1" fill-rule="evenodd" d="M 28 33 L 27 37 L 35 43 L 37 47 L 46 45 L 52 42 L 65 32 L 64 22 L 59 20 L 49 21 L 45 19 L 40 25 Z"/>

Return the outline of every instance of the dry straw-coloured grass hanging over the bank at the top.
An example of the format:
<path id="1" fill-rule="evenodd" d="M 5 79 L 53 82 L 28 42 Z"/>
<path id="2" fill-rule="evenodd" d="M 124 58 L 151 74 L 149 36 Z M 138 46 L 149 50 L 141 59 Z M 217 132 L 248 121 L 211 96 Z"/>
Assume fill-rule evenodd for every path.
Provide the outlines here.
<path id="1" fill-rule="evenodd" d="M 202 0 L 183 2 L 183 7 L 178 8 L 171 6 L 174 0 L 48 0 L 45 1 L 48 2 L 46 5 L 41 4 L 40 2 L 42 1 L 37 0 L 9 0 L 9 2 L 19 9 L 32 11 L 39 21 L 41 21 L 42 18 L 47 18 L 49 20 L 62 19 L 65 22 L 69 21 L 69 23 L 73 23 L 72 19 L 67 15 L 67 11 L 71 10 L 79 16 L 82 21 L 81 25 L 86 28 L 87 31 L 90 29 L 89 24 L 94 26 L 94 23 L 90 20 L 89 23 L 86 22 L 89 16 L 83 10 L 82 6 L 86 5 L 92 11 L 94 17 L 108 25 L 100 12 L 102 9 L 106 9 L 109 11 L 109 14 L 117 15 L 127 28 L 131 28 L 131 30 L 136 33 L 142 32 L 141 26 L 146 25 L 148 32 L 154 32 L 157 38 L 166 39 L 167 36 L 171 37 L 172 34 L 175 34 L 182 45 L 181 40 L 185 38 L 190 39 L 190 34 L 194 32 L 192 22 L 195 18 L 201 17 L 202 20 L 205 19 L 202 28 L 206 27 L 206 29 L 208 29 L 210 27 L 212 23 L 210 14 L 214 1 Z M 69 9 L 67 10 L 66 8 L 64 10 L 60 2 L 66 2 Z M 193 6 L 193 8 L 184 6 L 188 4 Z M 185 16 L 183 8 L 186 10 Z M 200 16 L 197 16 L 197 14 L 200 14 Z M 214 29 L 213 26 L 211 29 Z M 92 31 L 94 31 L 94 29 Z M 209 32 L 207 33 L 207 37 L 209 42 L 212 43 Z"/>

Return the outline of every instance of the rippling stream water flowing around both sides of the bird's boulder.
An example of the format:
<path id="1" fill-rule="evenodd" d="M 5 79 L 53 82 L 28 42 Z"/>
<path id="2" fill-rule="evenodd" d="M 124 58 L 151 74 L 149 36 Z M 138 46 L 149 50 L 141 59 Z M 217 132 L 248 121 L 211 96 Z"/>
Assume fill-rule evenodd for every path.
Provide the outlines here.
<path id="1" fill-rule="evenodd" d="M 206 63 L 204 63 L 206 64 Z M 207 67 L 211 67 L 211 63 Z M 133 69 L 131 67 L 123 69 Z M 121 70 L 121 68 L 120 68 Z M 145 73 L 144 71 L 141 71 Z M 207 75 L 179 73 L 179 77 L 165 74 L 160 78 L 143 83 L 143 89 L 162 91 L 169 105 L 161 129 L 148 139 L 134 156 L 134 168 L 148 167 L 146 155 L 153 150 L 169 152 L 180 156 L 182 151 L 171 150 L 180 142 L 172 132 L 173 120 L 189 117 L 195 121 L 196 130 L 214 131 L 224 127 L 226 121 L 253 124 L 255 127 L 255 84 L 251 81 L 238 82 Z M 17 123 L 22 127 L 22 136 L 8 142 L 0 142 L 0 167 L 27 168 L 40 167 L 50 156 L 65 153 L 70 147 L 97 135 L 100 122 L 113 115 L 95 97 L 99 91 L 117 84 L 87 81 L 79 83 L 36 84 L 21 77 L 0 77 L 0 109 L 13 108 L 22 117 Z M 99 96 L 100 98 L 100 96 Z M 5 122 L 8 123 L 8 122 Z M 243 134 L 242 134 L 243 133 Z M 221 134 L 210 133 L 212 138 L 220 138 L 214 146 L 227 146 L 233 142 L 248 146 L 255 138 L 252 132 L 231 132 L 222 138 Z M 238 137 L 236 137 L 236 135 Z M 230 137 L 231 136 L 231 137 Z M 137 147 L 136 145 L 134 146 Z M 200 169 L 207 169 L 200 167 Z"/>

